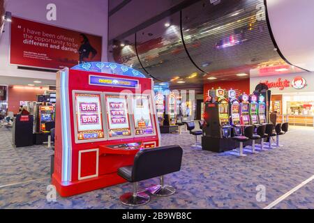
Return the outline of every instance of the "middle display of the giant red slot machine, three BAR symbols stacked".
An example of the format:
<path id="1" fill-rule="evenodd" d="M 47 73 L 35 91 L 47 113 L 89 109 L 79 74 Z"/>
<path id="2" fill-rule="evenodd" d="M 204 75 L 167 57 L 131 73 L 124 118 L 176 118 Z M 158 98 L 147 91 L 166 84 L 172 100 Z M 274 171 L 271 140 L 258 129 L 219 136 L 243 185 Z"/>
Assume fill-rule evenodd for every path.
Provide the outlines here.
<path id="1" fill-rule="evenodd" d="M 109 137 L 130 137 L 131 130 L 126 96 L 105 95 L 105 100 Z"/>

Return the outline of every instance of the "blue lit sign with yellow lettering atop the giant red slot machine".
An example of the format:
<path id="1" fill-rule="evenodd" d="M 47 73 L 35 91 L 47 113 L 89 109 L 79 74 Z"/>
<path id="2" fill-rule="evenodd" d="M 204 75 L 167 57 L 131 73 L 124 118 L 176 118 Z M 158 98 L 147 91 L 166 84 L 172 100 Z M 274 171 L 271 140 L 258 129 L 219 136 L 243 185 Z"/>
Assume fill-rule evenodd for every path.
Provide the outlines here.
<path id="1" fill-rule="evenodd" d="M 138 88 L 138 81 L 135 79 L 123 79 L 95 75 L 89 75 L 89 84 L 98 86 L 115 86 L 130 89 Z"/>

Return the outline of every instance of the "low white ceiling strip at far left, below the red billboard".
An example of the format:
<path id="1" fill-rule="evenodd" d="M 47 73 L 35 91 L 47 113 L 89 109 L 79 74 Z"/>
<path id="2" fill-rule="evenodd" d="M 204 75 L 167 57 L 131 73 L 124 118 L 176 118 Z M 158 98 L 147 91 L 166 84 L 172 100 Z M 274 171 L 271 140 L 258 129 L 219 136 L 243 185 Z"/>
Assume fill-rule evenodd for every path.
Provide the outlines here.
<path id="1" fill-rule="evenodd" d="M 34 81 L 40 81 L 42 83 L 36 84 Z M 51 79 L 33 79 L 33 78 L 24 78 L 24 77 L 8 77 L 8 76 L 0 76 L 0 85 L 24 85 L 35 84 L 35 86 L 55 86 L 56 81 Z"/>

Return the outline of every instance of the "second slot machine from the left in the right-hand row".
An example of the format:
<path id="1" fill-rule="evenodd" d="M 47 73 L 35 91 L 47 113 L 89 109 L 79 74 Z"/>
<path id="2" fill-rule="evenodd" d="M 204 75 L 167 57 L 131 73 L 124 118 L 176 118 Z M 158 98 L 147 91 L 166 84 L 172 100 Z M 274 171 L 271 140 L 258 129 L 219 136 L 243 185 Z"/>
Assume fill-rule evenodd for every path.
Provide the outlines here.
<path id="1" fill-rule="evenodd" d="M 233 134 L 239 136 L 242 134 L 242 125 L 240 120 L 240 102 L 237 100 L 236 91 L 230 89 L 228 98 L 230 103 L 230 125 L 232 125 Z"/>

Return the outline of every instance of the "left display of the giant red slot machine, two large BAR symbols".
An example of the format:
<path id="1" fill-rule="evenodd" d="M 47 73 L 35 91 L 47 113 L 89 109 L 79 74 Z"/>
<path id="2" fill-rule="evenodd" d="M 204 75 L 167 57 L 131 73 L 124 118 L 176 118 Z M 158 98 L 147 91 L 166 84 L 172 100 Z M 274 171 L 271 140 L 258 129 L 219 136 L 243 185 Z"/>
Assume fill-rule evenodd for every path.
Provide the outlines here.
<path id="1" fill-rule="evenodd" d="M 75 93 L 77 140 L 104 138 L 100 94 Z"/>

